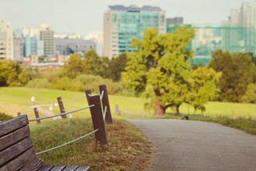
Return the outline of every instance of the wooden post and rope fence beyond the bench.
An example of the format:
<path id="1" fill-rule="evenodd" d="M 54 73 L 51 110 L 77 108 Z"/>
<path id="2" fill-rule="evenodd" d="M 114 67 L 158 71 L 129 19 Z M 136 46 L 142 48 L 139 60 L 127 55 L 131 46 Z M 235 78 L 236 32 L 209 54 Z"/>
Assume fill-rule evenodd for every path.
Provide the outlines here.
<path id="1" fill-rule="evenodd" d="M 78 137 L 72 141 L 68 141 L 62 145 L 55 146 L 51 149 L 46 149 L 46 150 L 36 153 L 36 154 L 39 155 L 42 153 L 47 153 L 54 149 L 61 148 L 62 146 L 70 145 L 71 143 L 73 143 L 75 141 L 78 141 L 78 140 L 81 140 L 82 138 L 90 136 L 92 133 L 95 133 L 96 144 L 99 142 L 100 145 L 106 145 L 107 140 L 106 140 L 105 121 L 106 121 L 106 123 L 110 123 L 110 124 L 112 123 L 112 117 L 111 117 L 111 113 L 110 113 L 110 104 L 109 104 L 109 100 L 108 100 L 108 94 L 106 91 L 106 85 L 99 85 L 99 92 L 100 92 L 99 94 L 92 95 L 91 90 L 87 89 L 85 91 L 85 93 L 86 93 L 86 99 L 88 102 L 88 106 L 83 107 L 81 109 L 74 109 L 74 110 L 70 110 L 70 111 L 66 111 L 64 109 L 62 97 L 57 97 L 60 113 L 53 114 L 51 116 L 39 117 L 38 109 L 36 107 L 34 107 L 34 113 L 35 113 L 36 118 L 30 119 L 29 122 L 37 121 L 39 124 L 39 123 L 41 123 L 42 120 L 53 118 L 53 117 L 62 117 L 63 119 L 66 119 L 66 115 L 68 115 L 68 114 L 75 113 L 75 112 L 78 112 L 78 111 L 81 111 L 84 109 L 90 109 L 90 114 L 91 114 L 91 118 L 92 118 L 92 122 L 93 122 L 93 126 L 94 126 L 93 131 L 91 131 L 90 133 L 86 133 L 85 135 Z M 82 99 L 84 97 L 85 96 L 77 97 L 77 98 L 73 98 L 73 99 L 67 99 L 65 101 L 76 101 L 76 100 Z M 102 108 L 103 108 L 103 110 L 102 110 Z M 21 113 L 18 113 L 18 115 L 20 115 L 20 114 Z"/>

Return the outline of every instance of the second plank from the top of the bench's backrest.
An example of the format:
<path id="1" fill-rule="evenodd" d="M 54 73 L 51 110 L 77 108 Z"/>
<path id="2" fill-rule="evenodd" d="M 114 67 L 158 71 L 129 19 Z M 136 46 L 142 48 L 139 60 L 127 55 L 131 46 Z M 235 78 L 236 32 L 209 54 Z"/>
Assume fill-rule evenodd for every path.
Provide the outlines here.
<path id="1" fill-rule="evenodd" d="M 20 141 L 23 138 L 28 137 L 29 135 L 30 135 L 30 129 L 29 129 L 29 126 L 26 125 L 25 127 L 22 127 L 12 133 L 9 133 L 3 137 L 0 137 L 0 151 L 10 145 L 13 145 L 17 141 Z"/>

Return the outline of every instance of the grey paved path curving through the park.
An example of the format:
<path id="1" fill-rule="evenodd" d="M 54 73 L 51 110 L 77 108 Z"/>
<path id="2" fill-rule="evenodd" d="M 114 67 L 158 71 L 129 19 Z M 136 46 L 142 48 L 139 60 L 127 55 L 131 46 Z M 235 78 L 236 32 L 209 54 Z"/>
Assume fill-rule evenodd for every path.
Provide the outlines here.
<path id="1" fill-rule="evenodd" d="M 129 120 L 154 146 L 146 170 L 256 170 L 256 136 L 203 121 Z"/>

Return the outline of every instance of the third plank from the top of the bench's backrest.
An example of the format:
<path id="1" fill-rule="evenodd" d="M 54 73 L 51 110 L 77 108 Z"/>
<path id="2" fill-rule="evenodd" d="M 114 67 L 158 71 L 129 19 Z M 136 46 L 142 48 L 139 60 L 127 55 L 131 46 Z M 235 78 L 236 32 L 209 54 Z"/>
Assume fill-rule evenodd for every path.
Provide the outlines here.
<path id="1" fill-rule="evenodd" d="M 10 161 L 11 159 L 18 157 L 19 154 L 25 152 L 27 149 L 32 147 L 31 137 L 19 141 L 18 143 L 10 146 L 7 149 L 4 149 L 0 152 L 0 165 L 3 165 Z"/>

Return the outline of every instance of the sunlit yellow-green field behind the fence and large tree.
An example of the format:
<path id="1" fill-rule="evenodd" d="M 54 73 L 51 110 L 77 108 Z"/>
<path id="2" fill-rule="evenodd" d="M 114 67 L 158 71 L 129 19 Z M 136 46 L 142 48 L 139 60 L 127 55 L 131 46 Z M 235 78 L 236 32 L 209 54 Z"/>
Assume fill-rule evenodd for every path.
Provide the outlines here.
<path id="1" fill-rule="evenodd" d="M 98 92 L 95 92 L 98 93 Z M 48 109 L 54 106 L 54 113 L 59 113 L 57 97 L 61 96 L 66 110 L 78 109 L 87 105 L 86 98 L 82 92 L 61 91 L 56 89 L 30 89 L 30 88 L 0 88 L 0 109 L 2 112 L 16 116 L 18 112 L 28 113 L 29 117 L 34 117 L 31 108 L 30 97 L 34 96 L 34 105 L 42 105 Z M 142 97 L 122 97 L 110 95 L 110 107 L 114 117 L 120 118 L 150 118 L 153 117 L 153 110 L 145 110 L 146 99 Z M 122 115 L 115 114 L 115 110 L 121 111 Z M 230 117 L 230 118 L 253 118 L 256 119 L 255 104 L 241 104 L 230 102 L 210 101 L 206 104 L 206 112 L 195 112 L 190 105 L 182 105 L 181 113 L 202 114 L 210 117 Z M 167 115 L 174 113 L 174 109 L 167 109 Z M 40 113 L 39 113 L 40 114 Z M 75 113 L 73 117 L 90 117 L 89 110 Z"/>

